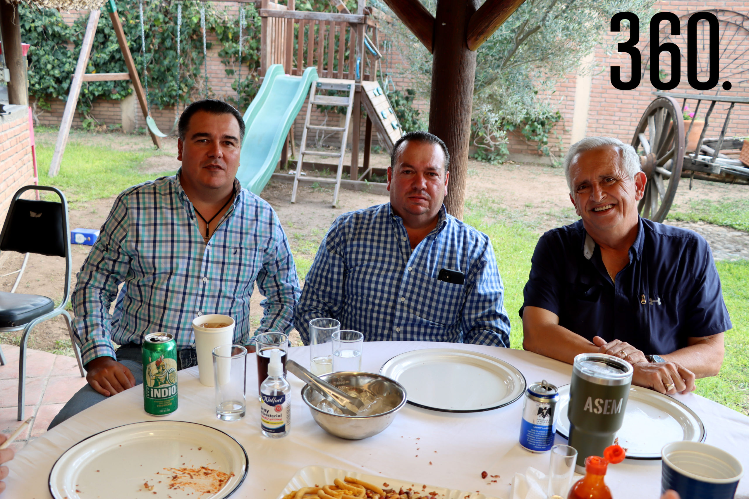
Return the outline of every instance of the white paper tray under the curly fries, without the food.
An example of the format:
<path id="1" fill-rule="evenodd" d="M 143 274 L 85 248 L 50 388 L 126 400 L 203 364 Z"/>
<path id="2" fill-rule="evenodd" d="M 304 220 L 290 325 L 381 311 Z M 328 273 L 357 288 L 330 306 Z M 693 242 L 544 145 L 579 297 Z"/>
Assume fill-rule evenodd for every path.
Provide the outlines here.
<path id="1" fill-rule="evenodd" d="M 384 478 L 382 475 L 375 477 L 374 475 L 366 475 L 357 471 L 323 468 L 322 466 L 306 466 L 297 471 L 297 474 L 291 478 L 289 483 L 286 484 L 285 489 L 279 494 L 278 499 L 282 499 L 285 495 L 302 487 L 333 485 L 333 480 L 336 480 L 336 478 L 343 480 L 345 477 L 357 478 L 382 489 L 393 489 L 395 492 L 399 492 L 401 488 L 404 491 L 411 490 L 416 493 L 416 497 L 421 495 L 422 497 L 427 496 L 432 499 L 497 499 L 479 492 L 463 492 L 455 489 L 445 489 L 444 487 L 425 486 L 421 483 Z"/>

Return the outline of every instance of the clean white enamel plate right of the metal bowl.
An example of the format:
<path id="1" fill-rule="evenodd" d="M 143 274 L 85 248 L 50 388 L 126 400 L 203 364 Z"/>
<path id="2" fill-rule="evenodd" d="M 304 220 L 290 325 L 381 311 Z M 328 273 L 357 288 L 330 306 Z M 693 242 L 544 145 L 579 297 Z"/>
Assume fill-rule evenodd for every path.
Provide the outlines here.
<path id="1" fill-rule="evenodd" d="M 525 376 L 512 365 L 461 349 L 406 352 L 383 364 L 380 374 L 406 388 L 408 403 L 446 412 L 503 407 L 526 388 Z"/>

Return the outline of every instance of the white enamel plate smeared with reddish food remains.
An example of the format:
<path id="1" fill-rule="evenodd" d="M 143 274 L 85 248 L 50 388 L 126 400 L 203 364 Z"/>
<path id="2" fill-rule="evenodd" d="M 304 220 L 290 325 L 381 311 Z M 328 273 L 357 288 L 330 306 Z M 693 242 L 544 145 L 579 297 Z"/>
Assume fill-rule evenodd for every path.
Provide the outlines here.
<path id="1" fill-rule="evenodd" d="M 220 499 L 247 474 L 247 453 L 226 433 L 185 421 L 144 421 L 92 435 L 49 473 L 55 499 Z"/>

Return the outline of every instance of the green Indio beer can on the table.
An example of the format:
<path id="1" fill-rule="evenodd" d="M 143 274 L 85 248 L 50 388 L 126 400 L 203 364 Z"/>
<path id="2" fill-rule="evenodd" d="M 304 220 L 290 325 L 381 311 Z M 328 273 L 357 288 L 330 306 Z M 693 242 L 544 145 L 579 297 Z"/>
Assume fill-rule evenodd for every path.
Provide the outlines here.
<path id="1" fill-rule="evenodd" d="M 143 408 L 152 416 L 177 410 L 177 343 L 170 333 L 146 334 L 143 340 Z"/>

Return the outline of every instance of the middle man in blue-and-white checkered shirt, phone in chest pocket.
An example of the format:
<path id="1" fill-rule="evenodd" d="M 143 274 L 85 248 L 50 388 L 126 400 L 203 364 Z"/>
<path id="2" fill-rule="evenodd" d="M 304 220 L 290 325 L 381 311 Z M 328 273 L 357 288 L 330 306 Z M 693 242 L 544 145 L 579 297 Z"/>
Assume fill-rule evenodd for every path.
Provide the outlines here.
<path id="1" fill-rule="evenodd" d="M 339 216 L 323 240 L 294 309 L 332 317 L 367 341 L 419 340 L 509 346 L 510 321 L 491 241 L 448 215 L 449 153 L 428 132 L 392 148 L 390 202 Z"/>

